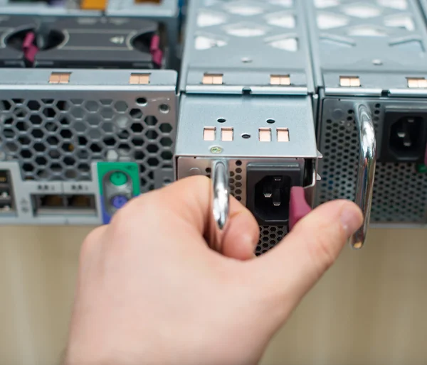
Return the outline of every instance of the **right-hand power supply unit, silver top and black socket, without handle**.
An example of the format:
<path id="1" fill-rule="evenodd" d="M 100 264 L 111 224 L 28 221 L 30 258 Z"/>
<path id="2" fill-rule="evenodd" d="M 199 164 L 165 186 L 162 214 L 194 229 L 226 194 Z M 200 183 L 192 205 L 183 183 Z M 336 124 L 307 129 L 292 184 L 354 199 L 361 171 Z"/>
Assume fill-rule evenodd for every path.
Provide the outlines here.
<path id="1" fill-rule="evenodd" d="M 416 1 L 307 2 L 320 93 L 317 204 L 354 199 L 357 105 L 374 121 L 375 224 L 427 223 L 426 26 Z"/>

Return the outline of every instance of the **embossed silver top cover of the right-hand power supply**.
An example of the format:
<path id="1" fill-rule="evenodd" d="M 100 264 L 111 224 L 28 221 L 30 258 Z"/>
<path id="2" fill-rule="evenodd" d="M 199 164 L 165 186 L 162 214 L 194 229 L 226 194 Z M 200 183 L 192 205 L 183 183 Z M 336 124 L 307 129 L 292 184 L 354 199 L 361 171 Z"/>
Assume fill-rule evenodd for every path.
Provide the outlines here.
<path id="1" fill-rule="evenodd" d="M 317 87 L 339 94 L 339 76 L 358 76 L 361 87 L 343 92 L 367 94 L 426 76 L 427 31 L 416 0 L 301 2 Z"/>

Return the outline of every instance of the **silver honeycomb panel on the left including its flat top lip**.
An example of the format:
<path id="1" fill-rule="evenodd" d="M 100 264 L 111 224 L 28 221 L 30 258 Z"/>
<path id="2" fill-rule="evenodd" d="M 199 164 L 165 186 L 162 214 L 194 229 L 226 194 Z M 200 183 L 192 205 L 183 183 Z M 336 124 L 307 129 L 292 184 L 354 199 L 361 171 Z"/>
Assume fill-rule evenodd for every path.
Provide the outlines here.
<path id="1" fill-rule="evenodd" d="M 51 72 L 69 84 L 49 84 Z M 171 178 L 176 134 L 176 72 L 150 70 L 0 70 L 0 157 L 23 180 L 90 180 L 93 161 L 135 161 L 142 192 Z"/>

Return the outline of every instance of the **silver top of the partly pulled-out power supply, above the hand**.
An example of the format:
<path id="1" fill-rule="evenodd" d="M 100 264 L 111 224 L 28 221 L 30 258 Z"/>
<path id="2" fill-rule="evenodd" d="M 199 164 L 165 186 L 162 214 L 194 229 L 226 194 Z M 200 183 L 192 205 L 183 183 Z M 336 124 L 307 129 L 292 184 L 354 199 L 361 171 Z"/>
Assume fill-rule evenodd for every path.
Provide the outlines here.
<path id="1" fill-rule="evenodd" d="M 216 128 L 215 141 L 204 141 L 205 127 Z M 221 140 L 222 128 L 233 129 L 233 141 Z M 270 142 L 260 141 L 260 128 L 271 129 Z M 288 142 L 277 140 L 278 129 L 288 129 Z M 213 146 L 221 147 L 221 157 L 317 159 L 311 99 L 309 96 L 181 95 L 175 155 L 216 158 L 211 153 Z"/>

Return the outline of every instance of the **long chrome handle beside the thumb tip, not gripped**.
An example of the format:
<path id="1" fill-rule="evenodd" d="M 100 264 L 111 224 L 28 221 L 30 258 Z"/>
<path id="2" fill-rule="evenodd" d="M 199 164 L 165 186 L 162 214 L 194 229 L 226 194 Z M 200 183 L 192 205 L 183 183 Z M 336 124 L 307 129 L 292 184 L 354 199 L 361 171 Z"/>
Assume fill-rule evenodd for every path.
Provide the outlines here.
<path id="1" fill-rule="evenodd" d="M 362 227 L 351 237 L 350 244 L 354 249 L 362 249 L 367 237 L 369 219 L 371 217 L 372 191 L 374 189 L 376 165 L 376 137 L 371 111 L 366 105 L 357 105 L 355 119 L 360 139 L 356 204 L 362 209 L 364 220 Z"/>

